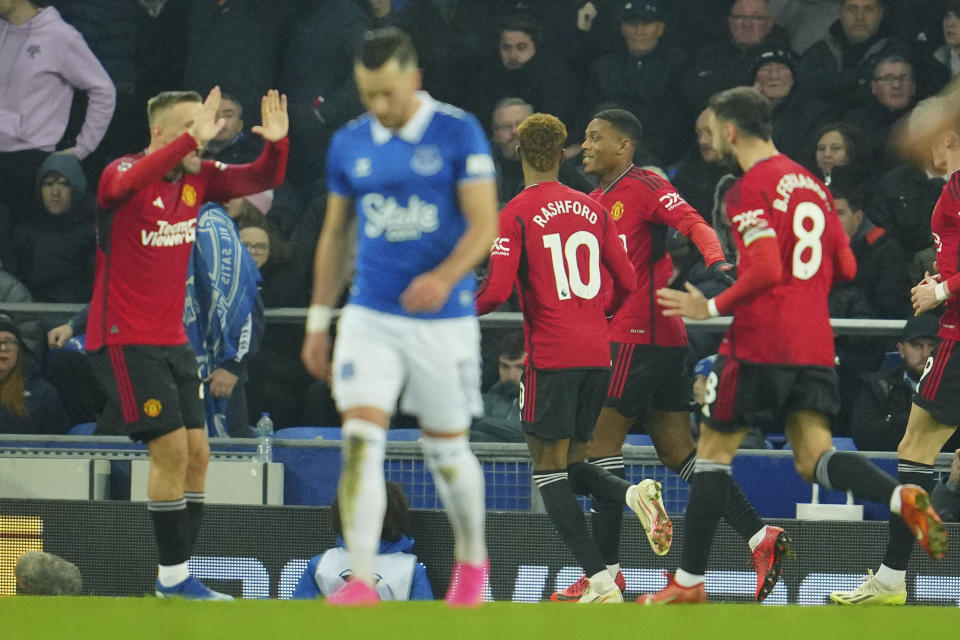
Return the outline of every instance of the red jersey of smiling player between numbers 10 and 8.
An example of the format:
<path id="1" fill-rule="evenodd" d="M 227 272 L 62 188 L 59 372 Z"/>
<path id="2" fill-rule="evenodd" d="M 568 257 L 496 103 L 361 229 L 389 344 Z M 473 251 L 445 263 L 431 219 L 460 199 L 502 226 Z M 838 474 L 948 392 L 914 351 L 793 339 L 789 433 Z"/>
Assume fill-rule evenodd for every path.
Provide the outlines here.
<path id="1" fill-rule="evenodd" d="M 610 322 L 610 341 L 687 344 L 683 320 L 665 317 L 654 296 L 673 276 L 673 261 L 666 250 L 668 228 L 692 238 L 707 265 L 723 259 L 716 234 L 672 184 L 639 167 L 631 166 L 609 187 L 590 195 L 610 211 L 637 274 L 637 290 Z"/>

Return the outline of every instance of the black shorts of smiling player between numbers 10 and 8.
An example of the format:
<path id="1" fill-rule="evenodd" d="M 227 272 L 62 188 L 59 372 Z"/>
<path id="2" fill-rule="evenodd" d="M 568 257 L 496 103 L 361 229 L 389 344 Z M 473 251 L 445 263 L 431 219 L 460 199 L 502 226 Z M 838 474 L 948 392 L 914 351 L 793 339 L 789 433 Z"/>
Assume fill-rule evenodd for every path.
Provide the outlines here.
<path id="1" fill-rule="evenodd" d="M 610 343 L 613 373 L 603 406 L 626 418 L 647 408 L 690 411 L 693 379 L 687 369 L 687 347 Z"/>

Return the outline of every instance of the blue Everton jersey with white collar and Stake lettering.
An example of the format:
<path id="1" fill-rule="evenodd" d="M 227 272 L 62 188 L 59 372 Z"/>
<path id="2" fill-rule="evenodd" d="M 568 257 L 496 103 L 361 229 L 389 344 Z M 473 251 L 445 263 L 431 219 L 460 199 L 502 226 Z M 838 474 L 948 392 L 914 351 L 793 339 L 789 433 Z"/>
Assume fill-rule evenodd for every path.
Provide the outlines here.
<path id="1" fill-rule="evenodd" d="M 466 230 L 457 187 L 494 180 L 483 129 L 472 115 L 418 92 L 420 107 L 399 130 L 367 113 L 334 135 L 327 152 L 327 187 L 352 198 L 357 260 L 350 303 L 386 313 L 403 310 L 400 294 L 453 251 Z M 444 307 L 418 318 L 474 313 L 473 275 Z"/>

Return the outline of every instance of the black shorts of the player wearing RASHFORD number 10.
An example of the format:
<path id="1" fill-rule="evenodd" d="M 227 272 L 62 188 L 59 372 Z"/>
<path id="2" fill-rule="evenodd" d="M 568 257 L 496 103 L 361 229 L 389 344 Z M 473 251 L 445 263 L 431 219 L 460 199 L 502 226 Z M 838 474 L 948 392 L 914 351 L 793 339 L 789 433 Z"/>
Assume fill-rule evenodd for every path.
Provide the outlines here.
<path id="1" fill-rule="evenodd" d="M 527 367 L 520 387 L 524 433 L 540 440 L 589 442 L 609 382 L 609 369 Z"/>

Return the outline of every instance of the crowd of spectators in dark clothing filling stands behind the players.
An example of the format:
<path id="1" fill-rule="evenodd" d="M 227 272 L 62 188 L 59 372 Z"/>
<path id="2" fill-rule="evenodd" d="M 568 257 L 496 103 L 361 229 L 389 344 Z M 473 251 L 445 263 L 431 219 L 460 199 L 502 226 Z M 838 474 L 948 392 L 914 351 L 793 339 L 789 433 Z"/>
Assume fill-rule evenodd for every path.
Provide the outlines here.
<path id="1" fill-rule="evenodd" d="M 214 85 L 227 125 L 204 155 L 223 162 L 259 154 L 250 126 L 267 89 L 289 98 L 286 182 L 225 204 L 263 275 L 265 306 L 306 305 L 326 146 L 362 110 L 353 43 L 385 25 L 411 34 L 424 88 L 488 129 L 501 204 L 523 187 L 515 147 L 526 115 L 567 124 L 561 181 L 589 191 L 580 132 L 598 109 L 626 108 L 644 126 L 636 163 L 670 177 L 728 240 L 732 262 L 721 197 L 731 178 L 705 107 L 716 91 L 755 86 L 774 106 L 778 148 L 835 190 L 860 262 L 834 292 L 836 315 L 910 315 L 947 176 L 907 163 L 890 132 L 960 73 L 960 0 L 0 0 L 0 305 L 89 300 L 100 171 L 146 146 L 147 98 Z M 690 247 L 670 246 L 680 277 L 695 273 Z M 488 362 L 499 337 L 485 340 Z M 269 411 L 279 428 L 330 415 L 328 389 L 300 364 L 301 340 L 295 326 L 268 326 L 248 363 L 251 417 Z M 694 340 L 691 366 L 710 342 Z M 838 340 L 851 406 L 861 377 L 894 350 Z M 42 365 L 42 347 L 35 355 Z M 69 421 L 89 419 L 74 404 Z M 849 433 L 849 419 L 837 427 Z"/>

